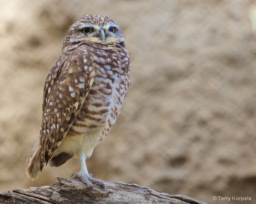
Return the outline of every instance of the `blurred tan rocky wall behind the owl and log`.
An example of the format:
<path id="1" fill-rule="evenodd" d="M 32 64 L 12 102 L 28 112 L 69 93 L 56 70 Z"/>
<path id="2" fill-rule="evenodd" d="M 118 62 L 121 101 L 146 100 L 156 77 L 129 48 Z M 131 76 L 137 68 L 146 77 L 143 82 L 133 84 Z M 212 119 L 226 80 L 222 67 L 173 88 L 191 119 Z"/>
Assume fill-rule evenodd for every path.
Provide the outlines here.
<path id="1" fill-rule="evenodd" d="M 210 203 L 256 202 L 256 37 L 252 0 L 0 0 L 0 192 L 32 182 L 25 162 L 41 125 L 45 78 L 70 25 L 119 23 L 132 61 L 117 124 L 87 160 L 97 179 Z"/>

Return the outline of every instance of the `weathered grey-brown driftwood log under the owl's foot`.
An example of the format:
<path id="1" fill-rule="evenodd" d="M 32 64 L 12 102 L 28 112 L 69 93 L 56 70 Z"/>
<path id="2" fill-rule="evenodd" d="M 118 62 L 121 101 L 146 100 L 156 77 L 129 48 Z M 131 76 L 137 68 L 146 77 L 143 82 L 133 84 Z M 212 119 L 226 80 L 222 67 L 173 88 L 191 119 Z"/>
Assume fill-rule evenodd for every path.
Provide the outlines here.
<path id="1" fill-rule="evenodd" d="M 125 204 L 125 203 L 171 203 L 171 204 L 206 204 L 205 202 L 184 195 L 157 193 L 147 187 L 125 184 L 117 181 L 105 181 L 106 190 L 94 185 L 92 191 L 76 178 L 58 178 L 59 182 L 51 186 L 14 189 L 0 193 L 0 203 L 37 203 L 37 204 Z"/>

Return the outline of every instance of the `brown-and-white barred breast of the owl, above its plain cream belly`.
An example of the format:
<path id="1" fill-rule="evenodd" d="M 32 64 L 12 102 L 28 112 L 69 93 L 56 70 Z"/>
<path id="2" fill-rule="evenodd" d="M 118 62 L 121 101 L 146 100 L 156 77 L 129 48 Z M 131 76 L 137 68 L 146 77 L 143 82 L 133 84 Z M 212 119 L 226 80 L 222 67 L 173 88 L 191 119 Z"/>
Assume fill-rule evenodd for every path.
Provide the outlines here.
<path id="1" fill-rule="evenodd" d="M 76 132 L 86 134 L 100 130 L 104 137 L 116 121 L 126 87 L 127 80 L 122 71 L 96 69 L 93 84 L 70 132 L 76 129 Z"/>

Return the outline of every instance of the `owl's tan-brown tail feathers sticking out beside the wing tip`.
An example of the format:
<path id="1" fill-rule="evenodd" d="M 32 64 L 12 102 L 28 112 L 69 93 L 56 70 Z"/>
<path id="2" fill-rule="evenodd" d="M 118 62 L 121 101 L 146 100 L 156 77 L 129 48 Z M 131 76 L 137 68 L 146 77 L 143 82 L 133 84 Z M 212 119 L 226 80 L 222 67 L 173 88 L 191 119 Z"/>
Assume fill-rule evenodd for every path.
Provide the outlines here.
<path id="1" fill-rule="evenodd" d="M 26 174 L 28 178 L 30 178 L 32 181 L 38 178 L 38 174 L 42 171 L 44 167 L 44 165 L 41 162 L 39 142 L 40 138 L 38 137 L 33 148 L 29 152 L 28 159 L 26 162 L 28 163 Z"/>

